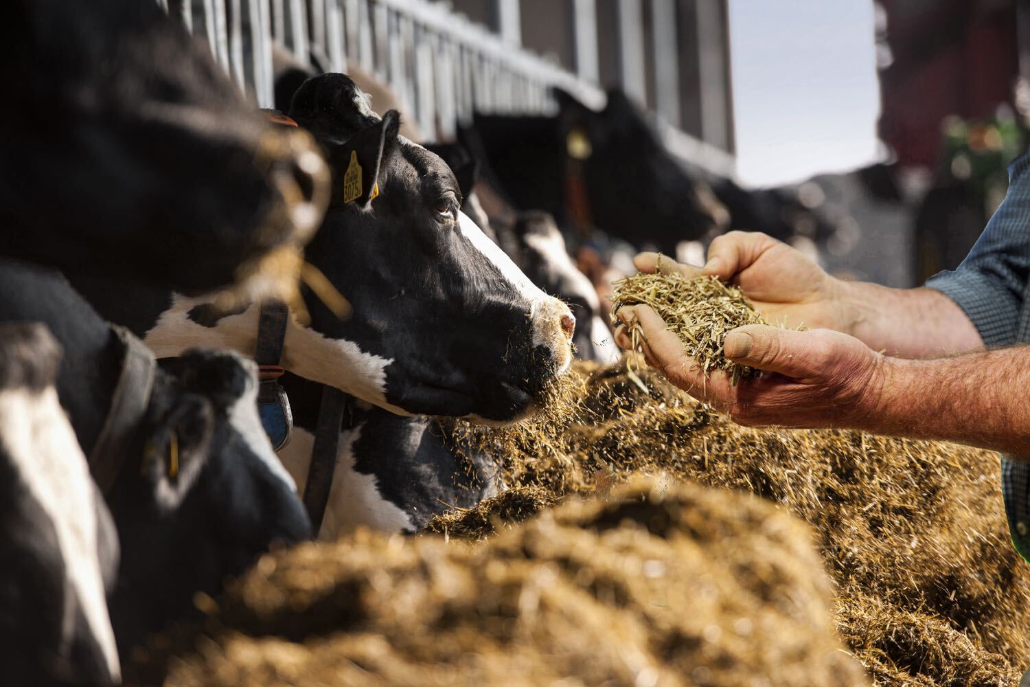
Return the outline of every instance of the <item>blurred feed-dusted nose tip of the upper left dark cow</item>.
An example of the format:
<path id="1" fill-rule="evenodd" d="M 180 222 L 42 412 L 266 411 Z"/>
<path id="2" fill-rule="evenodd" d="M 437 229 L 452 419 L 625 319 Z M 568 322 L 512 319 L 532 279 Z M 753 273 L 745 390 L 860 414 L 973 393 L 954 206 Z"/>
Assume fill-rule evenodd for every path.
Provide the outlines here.
<path id="1" fill-rule="evenodd" d="M 283 132 L 281 154 L 272 166 L 272 183 L 302 242 L 314 233 L 329 205 L 330 170 L 314 139 L 305 131 Z"/>

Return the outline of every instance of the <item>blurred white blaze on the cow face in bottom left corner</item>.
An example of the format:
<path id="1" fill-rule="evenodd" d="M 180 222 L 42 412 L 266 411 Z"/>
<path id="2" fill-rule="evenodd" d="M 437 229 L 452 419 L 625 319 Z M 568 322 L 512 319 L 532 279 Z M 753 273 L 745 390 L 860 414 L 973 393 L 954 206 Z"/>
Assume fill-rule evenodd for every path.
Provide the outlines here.
<path id="1" fill-rule="evenodd" d="M 0 442 L 37 503 L 50 518 L 65 564 L 66 589 L 74 594 L 112 682 L 121 681 L 114 631 L 107 615 L 98 558 L 97 503 L 85 456 L 57 391 L 0 391 Z M 74 612 L 74 606 L 66 606 Z M 65 618 L 69 640 L 74 618 Z"/>

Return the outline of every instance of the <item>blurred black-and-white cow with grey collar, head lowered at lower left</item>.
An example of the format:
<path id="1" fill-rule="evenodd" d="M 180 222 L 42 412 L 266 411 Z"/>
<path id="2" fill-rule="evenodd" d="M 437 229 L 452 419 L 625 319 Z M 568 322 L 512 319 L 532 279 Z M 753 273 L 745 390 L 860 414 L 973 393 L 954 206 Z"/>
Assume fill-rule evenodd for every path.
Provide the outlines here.
<path id="1" fill-rule="evenodd" d="M 61 405 L 94 476 L 110 475 L 105 497 L 122 562 L 109 608 L 123 655 L 193 613 L 195 592 L 217 593 L 272 542 L 310 537 L 258 417 L 252 363 L 187 351 L 170 371 L 159 367 L 123 385 L 124 370 L 138 360 L 129 356 L 139 355 L 131 335 L 111 329 L 57 273 L 0 261 L 0 321 L 19 320 L 45 323 L 63 346 Z M 111 436 L 112 407 L 147 383 L 137 412 L 117 414 L 121 440 L 95 454 Z"/>

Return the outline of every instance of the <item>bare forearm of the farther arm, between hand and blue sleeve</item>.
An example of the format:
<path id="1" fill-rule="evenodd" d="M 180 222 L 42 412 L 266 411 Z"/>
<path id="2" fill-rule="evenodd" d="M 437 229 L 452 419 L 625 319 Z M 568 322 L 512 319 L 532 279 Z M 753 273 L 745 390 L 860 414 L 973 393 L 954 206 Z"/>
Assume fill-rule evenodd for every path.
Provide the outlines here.
<path id="1" fill-rule="evenodd" d="M 843 332 L 873 350 L 903 358 L 981 349 L 976 328 L 954 301 L 932 288 L 839 282 Z"/>

